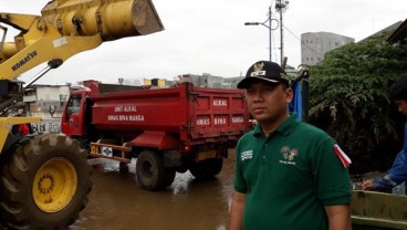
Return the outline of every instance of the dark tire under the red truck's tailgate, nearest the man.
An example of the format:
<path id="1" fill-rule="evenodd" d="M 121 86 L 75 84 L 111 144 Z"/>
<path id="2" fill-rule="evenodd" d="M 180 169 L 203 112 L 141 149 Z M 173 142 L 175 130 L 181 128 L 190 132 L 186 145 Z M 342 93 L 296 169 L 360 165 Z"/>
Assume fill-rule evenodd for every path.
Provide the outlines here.
<path id="1" fill-rule="evenodd" d="M 222 165 L 222 158 L 205 159 L 190 165 L 189 171 L 197 179 L 210 179 L 220 172 Z"/>

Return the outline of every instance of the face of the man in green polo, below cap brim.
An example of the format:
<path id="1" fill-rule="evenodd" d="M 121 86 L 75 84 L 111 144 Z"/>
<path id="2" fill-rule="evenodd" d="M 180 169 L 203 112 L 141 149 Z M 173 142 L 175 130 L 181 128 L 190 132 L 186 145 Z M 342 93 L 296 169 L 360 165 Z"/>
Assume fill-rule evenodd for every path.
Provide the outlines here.
<path id="1" fill-rule="evenodd" d="M 286 104 L 293 98 L 284 84 L 253 81 L 246 91 L 249 112 L 260 124 L 273 124 L 288 115 Z"/>

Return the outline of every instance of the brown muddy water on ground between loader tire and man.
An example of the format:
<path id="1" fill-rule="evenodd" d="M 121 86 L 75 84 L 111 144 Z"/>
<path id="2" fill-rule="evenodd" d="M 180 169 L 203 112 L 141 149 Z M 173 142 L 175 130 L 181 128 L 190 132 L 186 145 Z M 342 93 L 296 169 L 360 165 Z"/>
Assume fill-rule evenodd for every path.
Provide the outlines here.
<path id="1" fill-rule="evenodd" d="M 70 230 L 226 230 L 233 184 L 234 154 L 210 180 L 177 174 L 165 190 L 147 191 L 136 181 L 135 160 L 128 174 L 116 161 L 90 159 L 93 190 L 88 206 Z"/>

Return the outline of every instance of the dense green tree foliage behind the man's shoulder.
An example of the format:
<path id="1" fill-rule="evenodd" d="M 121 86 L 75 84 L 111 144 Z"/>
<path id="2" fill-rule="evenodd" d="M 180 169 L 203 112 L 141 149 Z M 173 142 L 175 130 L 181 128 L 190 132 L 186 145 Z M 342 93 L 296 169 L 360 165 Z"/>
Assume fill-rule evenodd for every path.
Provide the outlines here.
<path id="1" fill-rule="evenodd" d="M 388 90 L 407 76 L 407 44 L 386 43 L 388 34 L 331 51 L 310 70 L 310 122 L 354 154 L 373 150 L 379 134 L 397 137 Z"/>

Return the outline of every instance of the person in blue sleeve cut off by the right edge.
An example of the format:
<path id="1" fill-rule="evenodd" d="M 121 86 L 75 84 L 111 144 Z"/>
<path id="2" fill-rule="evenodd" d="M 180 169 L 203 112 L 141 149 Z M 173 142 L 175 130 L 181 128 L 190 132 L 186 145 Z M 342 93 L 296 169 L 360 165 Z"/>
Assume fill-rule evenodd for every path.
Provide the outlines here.
<path id="1" fill-rule="evenodd" d="M 400 113 L 407 115 L 407 77 L 392 85 L 389 98 L 396 104 Z M 397 154 L 392 168 L 384 177 L 365 180 L 362 184 L 362 189 L 392 192 L 395 186 L 404 181 L 407 181 L 407 123 L 404 127 L 404 146 Z"/>

